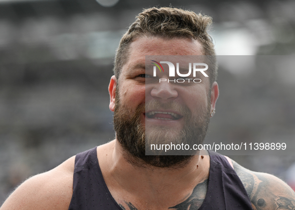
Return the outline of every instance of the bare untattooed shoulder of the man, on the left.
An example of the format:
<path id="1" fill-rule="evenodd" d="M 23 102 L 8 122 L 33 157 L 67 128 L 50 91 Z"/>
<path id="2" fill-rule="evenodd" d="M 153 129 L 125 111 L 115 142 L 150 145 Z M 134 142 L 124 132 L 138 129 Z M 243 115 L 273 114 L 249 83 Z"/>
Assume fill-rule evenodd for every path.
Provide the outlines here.
<path id="1" fill-rule="evenodd" d="M 23 182 L 0 210 L 67 210 L 72 197 L 75 156 Z"/>

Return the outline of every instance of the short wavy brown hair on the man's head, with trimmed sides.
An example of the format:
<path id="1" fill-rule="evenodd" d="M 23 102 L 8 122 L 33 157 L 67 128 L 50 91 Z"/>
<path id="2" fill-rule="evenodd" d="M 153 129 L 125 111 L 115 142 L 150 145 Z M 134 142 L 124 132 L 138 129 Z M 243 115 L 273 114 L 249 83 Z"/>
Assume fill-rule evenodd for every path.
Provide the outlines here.
<path id="1" fill-rule="evenodd" d="M 198 40 L 204 55 L 210 55 L 209 78 L 212 84 L 217 78 L 217 64 L 214 44 L 207 29 L 212 18 L 193 11 L 179 8 L 147 8 L 138 14 L 136 20 L 121 38 L 114 61 L 114 74 L 119 79 L 121 69 L 128 60 L 128 49 L 134 38 L 139 36 L 156 36 L 161 38 L 193 38 Z"/>

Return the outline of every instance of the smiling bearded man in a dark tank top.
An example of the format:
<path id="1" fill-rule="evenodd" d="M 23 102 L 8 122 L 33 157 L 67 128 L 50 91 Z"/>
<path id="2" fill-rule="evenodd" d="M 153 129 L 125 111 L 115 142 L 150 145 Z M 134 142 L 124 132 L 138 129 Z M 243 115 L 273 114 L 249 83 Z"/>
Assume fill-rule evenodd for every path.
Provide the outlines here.
<path id="1" fill-rule="evenodd" d="M 294 209 L 282 180 L 213 151 L 145 155 L 161 140 L 203 143 L 219 95 L 211 21 L 177 8 L 143 10 L 121 39 L 109 84 L 116 139 L 31 177 L 0 210 Z M 169 79 L 167 66 L 154 77 L 147 55 L 208 56 L 208 77 L 159 83 Z"/>

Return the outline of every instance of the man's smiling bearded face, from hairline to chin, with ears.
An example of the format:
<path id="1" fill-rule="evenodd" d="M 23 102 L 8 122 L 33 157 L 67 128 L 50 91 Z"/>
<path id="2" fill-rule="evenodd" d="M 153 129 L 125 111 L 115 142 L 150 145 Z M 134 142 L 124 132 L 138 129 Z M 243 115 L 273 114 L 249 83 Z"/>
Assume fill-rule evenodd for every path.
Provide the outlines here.
<path id="1" fill-rule="evenodd" d="M 160 84 L 145 71 L 145 56 L 202 55 L 200 43 L 191 39 L 140 37 L 129 49 L 118 84 L 113 79 L 114 88 L 110 90 L 117 140 L 133 157 L 154 166 L 169 167 L 189 159 L 190 156 L 183 155 L 145 156 L 145 140 L 163 142 L 166 138 L 176 143 L 193 135 L 196 143 L 202 143 L 218 96 L 217 84 L 209 87 L 205 77 L 199 77 L 202 83 L 198 84 Z M 164 73 L 158 76 L 168 77 Z"/>

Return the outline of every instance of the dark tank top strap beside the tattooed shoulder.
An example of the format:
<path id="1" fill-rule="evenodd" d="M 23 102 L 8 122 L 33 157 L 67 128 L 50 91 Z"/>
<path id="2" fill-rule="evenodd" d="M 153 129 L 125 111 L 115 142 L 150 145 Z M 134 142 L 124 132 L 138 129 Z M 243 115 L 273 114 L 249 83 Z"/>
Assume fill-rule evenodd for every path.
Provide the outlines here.
<path id="1" fill-rule="evenodd" d="M 208 189 L 199 210 L 253 210 L 246 189 L 227 158 L 214 151 L 208 152 Z"/>

